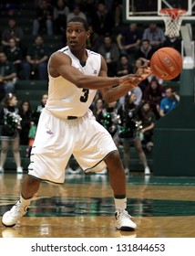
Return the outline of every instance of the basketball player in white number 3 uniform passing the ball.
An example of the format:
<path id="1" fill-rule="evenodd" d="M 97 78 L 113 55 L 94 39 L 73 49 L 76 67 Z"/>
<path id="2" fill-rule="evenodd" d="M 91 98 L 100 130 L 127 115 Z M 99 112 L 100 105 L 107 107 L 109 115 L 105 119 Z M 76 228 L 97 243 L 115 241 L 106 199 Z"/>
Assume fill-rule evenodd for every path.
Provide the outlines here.
<path id="1" fill-rule="evenodd" d="M 39 118 L 20 199 L 2 219 L 6 227 L 15 226 L 26 214 L 42 181 L 64 182 L 65 168 L 73 154 L 86 173 L 92 169 L 101 171 L 107 165 L 114 193 L 116 228 L 137 228 L 126 210 L 126 176 L 118 149 L 108 131 L 97 123 L 89 106 L 97 89 L 105 101 L 117 101 L 147 79 L 151 71 L 146 66 L 135 75 L 108 78 L 106 61 L 86 49 L 88 37 L 86 21 L 72 18 L 67 23 L 67 47 L 49 59 L 48 100 Z"/>

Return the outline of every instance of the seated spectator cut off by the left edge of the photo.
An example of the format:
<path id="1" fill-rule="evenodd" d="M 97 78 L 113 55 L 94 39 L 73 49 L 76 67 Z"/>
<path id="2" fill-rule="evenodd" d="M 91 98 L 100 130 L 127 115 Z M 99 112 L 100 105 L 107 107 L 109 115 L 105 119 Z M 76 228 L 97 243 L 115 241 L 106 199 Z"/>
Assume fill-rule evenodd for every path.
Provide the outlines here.
<path id="1" fill-rule="evenodd" d="M 12 62 L 7 60 L 5 52 L 0 52 L 0 91 L 1 100 L 15 91 L 16 72 Z"/>

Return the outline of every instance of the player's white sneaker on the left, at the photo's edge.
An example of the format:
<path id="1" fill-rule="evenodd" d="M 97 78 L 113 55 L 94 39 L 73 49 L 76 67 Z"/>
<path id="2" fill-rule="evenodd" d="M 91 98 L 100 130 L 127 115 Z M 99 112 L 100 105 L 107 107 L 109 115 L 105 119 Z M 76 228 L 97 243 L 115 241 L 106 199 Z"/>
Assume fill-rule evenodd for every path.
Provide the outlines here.
<path id="1" fill-rule="evenodd" d="M 27 207 L 24 207 L 18 201 L 13 208 L 6 211 L 2 218 L 2 224 L 5 227 L 14 227 L 17 221 L 22 218 L 27 212 Z"/>

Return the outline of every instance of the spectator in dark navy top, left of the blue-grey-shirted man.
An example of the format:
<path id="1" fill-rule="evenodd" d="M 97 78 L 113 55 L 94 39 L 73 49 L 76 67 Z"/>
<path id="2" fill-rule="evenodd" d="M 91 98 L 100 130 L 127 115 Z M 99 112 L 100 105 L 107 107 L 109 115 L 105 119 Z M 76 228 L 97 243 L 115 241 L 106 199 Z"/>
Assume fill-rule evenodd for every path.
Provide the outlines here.
<path id="1" fill-rule="evenodd" d="M 141 33 L 136 23 L 131 23 L 124 28 L 117 36 L 118 48 L 121 54 L 128 54 L 131 60 L 135 59 L 135 55 L 139 50 L 141 42 Z"/>

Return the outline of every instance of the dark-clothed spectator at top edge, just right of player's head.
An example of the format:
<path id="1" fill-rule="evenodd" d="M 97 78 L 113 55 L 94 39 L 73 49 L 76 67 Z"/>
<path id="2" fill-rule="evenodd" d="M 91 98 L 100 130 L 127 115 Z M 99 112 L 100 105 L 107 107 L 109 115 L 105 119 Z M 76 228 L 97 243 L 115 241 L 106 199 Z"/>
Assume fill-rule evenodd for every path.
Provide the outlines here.
<path id="1" fill-rule="evenodd" d="M 92 27 L 99 37 L 104 37 L 106 34 L 112 34 L 115 26 L 112 14 L 108 13 L 106 5 L 103 2 L 98 2 L 97 12 L 92 16 Z"/>

